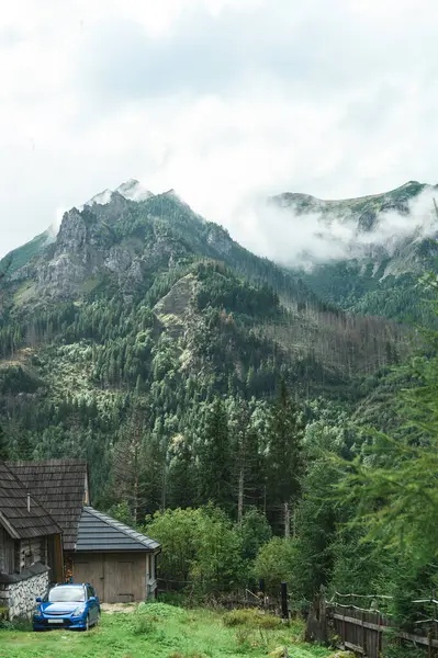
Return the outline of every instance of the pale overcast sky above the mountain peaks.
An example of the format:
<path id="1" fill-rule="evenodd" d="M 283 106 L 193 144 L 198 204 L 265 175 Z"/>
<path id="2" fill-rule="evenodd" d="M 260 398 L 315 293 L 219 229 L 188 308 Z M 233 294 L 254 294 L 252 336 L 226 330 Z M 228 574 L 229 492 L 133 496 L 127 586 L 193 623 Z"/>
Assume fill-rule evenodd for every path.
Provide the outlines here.
<path id="1" fill-rule="evenodd" d="M 238 208 L 438 182 L 436 0 L 15 0 L 0 15 L 0 254 L 136 178 Z"/>

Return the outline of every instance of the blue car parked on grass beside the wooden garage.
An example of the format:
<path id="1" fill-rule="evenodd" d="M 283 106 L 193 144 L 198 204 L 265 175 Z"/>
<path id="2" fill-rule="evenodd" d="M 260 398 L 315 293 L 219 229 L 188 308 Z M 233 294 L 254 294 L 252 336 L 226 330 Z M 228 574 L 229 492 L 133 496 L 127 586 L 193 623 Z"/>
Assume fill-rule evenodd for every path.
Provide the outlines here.
<path id="1" fill-rule="evenodd" d="M 89 582 L 56 585 L 37 597 L 33 629 L 70 628 L 88 631 L 100 621 L 99 597 Z"/>

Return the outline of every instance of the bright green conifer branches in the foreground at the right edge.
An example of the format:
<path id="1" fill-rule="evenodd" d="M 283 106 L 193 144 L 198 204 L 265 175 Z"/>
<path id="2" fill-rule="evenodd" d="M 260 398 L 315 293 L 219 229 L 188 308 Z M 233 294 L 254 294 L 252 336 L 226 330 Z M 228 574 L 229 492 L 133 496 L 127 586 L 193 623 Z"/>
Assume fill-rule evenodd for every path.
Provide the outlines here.
<path id="1" fill-rule="evenodd" d="M 357 508 L 369 540 L 427 565 L 438 545 L 438 358 L 414 360 L 411 367 L 419 384 L 403 394 L 404 434 L 372 432 L 339 492 Z"/>

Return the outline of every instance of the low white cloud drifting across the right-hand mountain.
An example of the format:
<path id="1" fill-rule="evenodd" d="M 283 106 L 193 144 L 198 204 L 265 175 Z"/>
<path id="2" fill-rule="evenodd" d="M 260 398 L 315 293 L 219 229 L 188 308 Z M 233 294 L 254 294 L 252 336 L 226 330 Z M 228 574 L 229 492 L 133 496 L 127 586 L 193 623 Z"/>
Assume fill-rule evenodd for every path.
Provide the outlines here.
<path id="1" fill-rule="evenodd" d="M 437 190 L 426 189 L 408 204 L 408 214 L 381 213 L 371 230 L 359 226 L 358 216 L 348 209 L 328 214 L 301 214 L 296 206 L 280 206 L 260 198 L 240 207 L 235 220 L 249 238 L 248 247 L 289 266 L 312 268 L 347 258 L 363 258 L 377 248 L 388 254 L 406 238 L 438 235 L 438 217 L 434 208 Z"/>

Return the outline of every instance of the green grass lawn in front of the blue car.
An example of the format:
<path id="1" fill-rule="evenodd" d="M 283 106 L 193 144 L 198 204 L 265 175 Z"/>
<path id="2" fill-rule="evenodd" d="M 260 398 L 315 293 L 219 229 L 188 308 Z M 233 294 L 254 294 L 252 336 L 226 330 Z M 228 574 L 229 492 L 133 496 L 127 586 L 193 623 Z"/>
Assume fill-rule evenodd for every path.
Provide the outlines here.
<path id="1" fill-rule="evenodd" d="M 292 658 L 326 658 L 329 650 L 302 640 L 303 625 L 262 627 L 254 614 L 224 623 L 227 613 L 184 610 L 165 603 L 132 614 L 103 614 L 89 633 L 1 631 L 1 658 L 261 658 L 288 646 Z"/>

